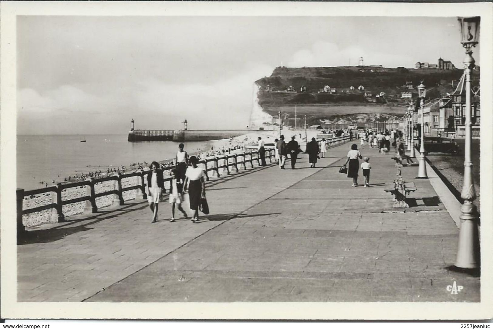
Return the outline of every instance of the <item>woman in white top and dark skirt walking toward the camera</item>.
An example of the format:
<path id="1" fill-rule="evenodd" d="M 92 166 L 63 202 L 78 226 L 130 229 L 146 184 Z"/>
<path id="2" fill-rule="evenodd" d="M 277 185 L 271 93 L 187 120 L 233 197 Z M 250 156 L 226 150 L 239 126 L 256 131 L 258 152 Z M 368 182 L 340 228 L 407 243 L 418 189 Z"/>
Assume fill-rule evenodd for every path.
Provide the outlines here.
<path id="1" fill-rule="evenodd" d="M 188 185 L 190 209 L 195 211 L 192 222 L 195 223 L 199 220 L 200 199 L 206 197 L 206 183 L 204 180 L 206 173 L 204 172 L 204 169 L 197 166 L 199 160 L 195 156 L 191 156 L 189 161 L 191 166 L 186 169 L 183 193 L 186 192 Z"/>

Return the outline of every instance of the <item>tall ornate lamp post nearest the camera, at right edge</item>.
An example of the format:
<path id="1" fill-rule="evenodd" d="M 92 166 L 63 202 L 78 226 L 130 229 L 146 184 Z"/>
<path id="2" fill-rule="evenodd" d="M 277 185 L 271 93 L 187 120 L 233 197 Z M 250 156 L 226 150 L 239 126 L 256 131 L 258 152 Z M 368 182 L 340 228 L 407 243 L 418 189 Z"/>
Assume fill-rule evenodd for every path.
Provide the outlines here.
<path id="1" fill-rule="evenodd" d="M 460 197 L 460 230 L 456 266 L 460 268 L 479 267 L 478 213 L 472 201 L 476 198 L 472 180 L 471 161 L 471 70 L 474 67 L 472 47 L 479 41 L 480 17 L 459 17 L 462 46 L 466 49 L 464 58 L 465 75 L 465 140 L 464 140 L 464 183 Z"/>

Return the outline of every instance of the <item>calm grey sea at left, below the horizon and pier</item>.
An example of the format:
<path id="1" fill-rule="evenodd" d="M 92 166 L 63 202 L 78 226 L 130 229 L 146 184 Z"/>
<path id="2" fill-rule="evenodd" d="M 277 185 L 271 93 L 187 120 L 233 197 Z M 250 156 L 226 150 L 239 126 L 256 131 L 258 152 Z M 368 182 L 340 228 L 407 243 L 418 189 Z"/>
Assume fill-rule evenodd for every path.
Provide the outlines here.
<path id="1" fill-rule="evenodd" d="M 81 143 L 81 139 L 86 139 Z M 78 173 L 173 159 L 178 144 L 170 141 L 130 143 L 127 135 L 18 135 L 17 187 L 32 190 Z M 187 142 L 189 154 L 207 142 Z"/>

